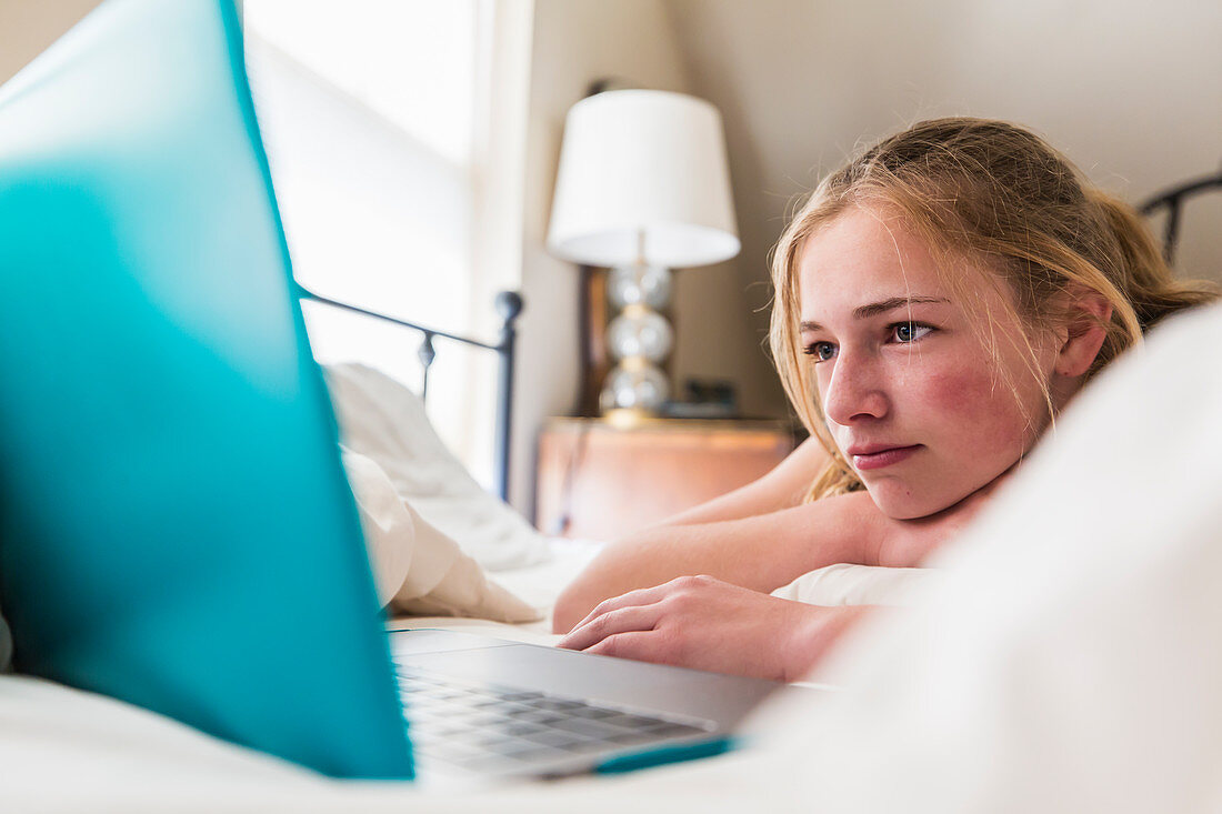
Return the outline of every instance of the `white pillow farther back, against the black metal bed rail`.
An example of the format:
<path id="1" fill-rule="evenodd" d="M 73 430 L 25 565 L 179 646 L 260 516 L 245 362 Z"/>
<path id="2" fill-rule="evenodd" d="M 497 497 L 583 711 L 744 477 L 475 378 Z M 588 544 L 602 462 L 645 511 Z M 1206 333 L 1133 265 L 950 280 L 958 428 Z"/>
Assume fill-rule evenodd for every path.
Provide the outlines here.
<path id="1" fill-rule="evenodd" d="M 324 368 L 345 446 L 373 460 L 398 496 L 489 571 L 549 559 L 546 539 L 484 491 L 446 449 L 420 398 L 362 364 Z"/>

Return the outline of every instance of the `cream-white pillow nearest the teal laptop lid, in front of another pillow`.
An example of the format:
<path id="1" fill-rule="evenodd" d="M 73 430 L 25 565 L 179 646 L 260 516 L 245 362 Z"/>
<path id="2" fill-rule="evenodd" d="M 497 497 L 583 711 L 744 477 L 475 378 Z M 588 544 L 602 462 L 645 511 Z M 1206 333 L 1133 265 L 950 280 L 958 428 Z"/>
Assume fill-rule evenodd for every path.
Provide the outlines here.
<path id="1" fill-rule="evenodd" d="M 381 467 L 351 450 L 341 451 L 382 605 L 424 616 L 499 622 L 540 618 L 534 607 L 488 579 L 457 543 L 400 500 Z"/>

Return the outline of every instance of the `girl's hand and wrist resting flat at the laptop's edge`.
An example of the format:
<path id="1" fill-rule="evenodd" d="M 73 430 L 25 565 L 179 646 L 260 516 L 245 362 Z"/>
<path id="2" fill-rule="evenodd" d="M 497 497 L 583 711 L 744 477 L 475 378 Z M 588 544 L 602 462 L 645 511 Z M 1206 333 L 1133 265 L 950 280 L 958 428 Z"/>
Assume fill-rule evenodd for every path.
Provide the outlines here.
<path id="1" fill-rule="evenodd" d="M 606 600 L 560 647 L 797 681 L 866 610 L 805 605 L 712 577 L 679 577 Z"/>

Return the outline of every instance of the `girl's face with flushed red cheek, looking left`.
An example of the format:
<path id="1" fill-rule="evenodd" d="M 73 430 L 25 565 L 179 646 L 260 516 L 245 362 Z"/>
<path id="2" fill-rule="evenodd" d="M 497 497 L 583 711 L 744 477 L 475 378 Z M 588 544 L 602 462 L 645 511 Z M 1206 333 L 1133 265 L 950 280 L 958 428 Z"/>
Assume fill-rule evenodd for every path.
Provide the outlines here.
<path id="1" fill-rule="evenodd" d="M 957 504 L 1044 430 L 1052 337 L 1029 337 L 1033 375 L 1002 295 L 981 282 L 970 303 L 956 298 L 898 216 L 849 209 L 807 240 L 799 275 L 802 345 L 827 427 L 884 513 Z M 996 353 L 974 330 L 986 319 Z"/>

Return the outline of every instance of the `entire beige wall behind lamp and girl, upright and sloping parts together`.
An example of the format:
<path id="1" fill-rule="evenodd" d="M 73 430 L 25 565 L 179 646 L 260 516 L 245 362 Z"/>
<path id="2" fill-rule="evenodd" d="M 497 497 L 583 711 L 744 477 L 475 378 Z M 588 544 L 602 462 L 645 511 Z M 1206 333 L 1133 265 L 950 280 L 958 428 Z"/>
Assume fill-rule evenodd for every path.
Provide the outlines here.
<path id="1" fill-rule="evenodd" d="M 524 275 L 528 307 L 552 323 L 523 356 L 547 368 L 528 374 L 534 416 L 576 396 L 576 281 L 541 246 L 562 116 L 598 76 L 722 111 L 743 252 L 677 274 L 672 373 L 730 379 L 756 414 L 788 412 L 761 348 L 769 252 L 797 197 L 863 141 L 930 116 L 1007 119 L 1134 202 L 1222 161 L 1215 2 L 540 0 L 534 34 Z M 1191 205 L 1183 275 L 1222 280 L 1220 222 L 1222 194 Z"/>

